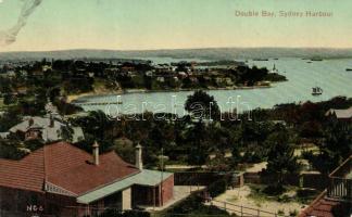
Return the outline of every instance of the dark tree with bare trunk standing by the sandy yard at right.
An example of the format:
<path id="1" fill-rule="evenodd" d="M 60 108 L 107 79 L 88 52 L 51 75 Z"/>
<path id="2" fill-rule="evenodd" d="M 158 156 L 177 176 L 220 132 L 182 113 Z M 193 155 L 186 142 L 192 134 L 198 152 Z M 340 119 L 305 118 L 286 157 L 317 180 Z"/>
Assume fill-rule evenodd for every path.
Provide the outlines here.
<path id="1" fill-rule="evenodd" d="M 265 143 L 269 148 L 266 173 L 276 176 L 275 187 L 277 190 L 282 189 L 285 176 L 294 174 L 300 168 L 293 155 L 294 146 L 289 143 L 286 129 L 269 135 Z"/>

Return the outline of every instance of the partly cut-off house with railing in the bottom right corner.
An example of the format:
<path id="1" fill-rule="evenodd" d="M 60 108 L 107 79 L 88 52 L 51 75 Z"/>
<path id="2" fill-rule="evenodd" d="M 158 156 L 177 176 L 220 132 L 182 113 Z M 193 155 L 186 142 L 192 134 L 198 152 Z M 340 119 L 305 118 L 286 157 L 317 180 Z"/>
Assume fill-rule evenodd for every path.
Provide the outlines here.
<path id="1" fill-rule="evenodd" d="M 352 215 L 352 155 L 329 175 L 329 186 L 299 217 Z"/>

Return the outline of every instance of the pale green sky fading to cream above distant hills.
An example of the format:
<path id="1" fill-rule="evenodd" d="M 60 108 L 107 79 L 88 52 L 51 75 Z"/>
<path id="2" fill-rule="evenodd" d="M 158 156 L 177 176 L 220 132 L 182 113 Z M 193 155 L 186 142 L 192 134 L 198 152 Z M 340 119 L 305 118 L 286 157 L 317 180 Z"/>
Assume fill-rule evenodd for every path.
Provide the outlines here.
<path id="1" fill-rule="evenodd" d="M 26 0 L 0 0 L 0 31 Z M 352 48 L 351 0 L 42 0 L 0 51 L 223 47 Z M 236 16 L 273 11 L 276 17 Z M 322 11 L 331 17 L 279 17 Z"/>

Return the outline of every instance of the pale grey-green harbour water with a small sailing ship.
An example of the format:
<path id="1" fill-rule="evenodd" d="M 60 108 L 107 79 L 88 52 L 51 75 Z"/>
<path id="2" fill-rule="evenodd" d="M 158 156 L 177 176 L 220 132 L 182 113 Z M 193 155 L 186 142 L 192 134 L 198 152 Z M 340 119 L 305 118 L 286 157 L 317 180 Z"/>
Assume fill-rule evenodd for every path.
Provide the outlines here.
<path id="1" fill-rule="evenodd" d="M 155 61 L 155 60 L 154 60 Z M 177 62 L 178 60 L 167 59 Z M 164 62 L 167 62 L 164 61 Z M 163 62 L 162 59 L 158 60 Z M 269 108 L 281 103 L 318 102 L 337 95 L 352 97 L 351 59 L 323 60 L 309 63 L 302 59 L 279 59 L 248 61 L 249 65 L 273 68 L 274 64 L 288 81 L 273 84 L 272 88 L 209 90 L 223 112 L 237 108 L 238 112 L 256 107 Z M 312 87 L 322 87 L 322 95 L 312 95 Z M 184 114 L 184 103 L 192 91 L 134 92 L 121 95 L 92 95 L 78 100 L 85 102 L 112 102 L 112 105 L 83 105 L 85 111 L 102 110 L 113 114 L 171 112 Z M 123 102 L 118 104 L 116 102 Z"/>

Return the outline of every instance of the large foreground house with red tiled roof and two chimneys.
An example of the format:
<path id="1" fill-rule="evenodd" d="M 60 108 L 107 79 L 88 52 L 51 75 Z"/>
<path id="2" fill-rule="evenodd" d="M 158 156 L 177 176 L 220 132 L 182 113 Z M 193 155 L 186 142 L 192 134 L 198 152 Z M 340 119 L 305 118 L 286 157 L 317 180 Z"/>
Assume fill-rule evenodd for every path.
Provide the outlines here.
<path id="1" fill-rule="evenodd" d="M 47 144 L 20 161 L 0 159 L 0 216 L 96 216 L 105 208 L 163 206 L 173 199 L 174 175 L 143 169 L 114 151 L 89 154 L 70 143 Z"/>

